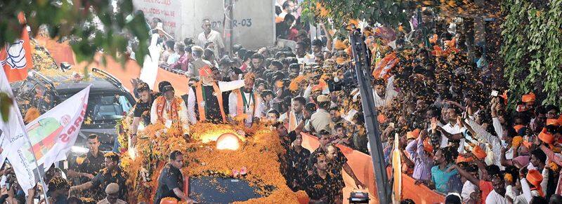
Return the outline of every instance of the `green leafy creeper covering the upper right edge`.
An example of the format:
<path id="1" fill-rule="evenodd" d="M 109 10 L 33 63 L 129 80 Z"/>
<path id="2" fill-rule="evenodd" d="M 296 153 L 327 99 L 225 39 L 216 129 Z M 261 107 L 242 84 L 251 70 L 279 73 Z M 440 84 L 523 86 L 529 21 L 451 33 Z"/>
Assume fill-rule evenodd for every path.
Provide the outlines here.
<path id="1" fill-rule="evenodd" d="M 511 101 L 538 91 L 537 100 L 561 105 L 562 0 L 504 0 L 502 56 Z"/>

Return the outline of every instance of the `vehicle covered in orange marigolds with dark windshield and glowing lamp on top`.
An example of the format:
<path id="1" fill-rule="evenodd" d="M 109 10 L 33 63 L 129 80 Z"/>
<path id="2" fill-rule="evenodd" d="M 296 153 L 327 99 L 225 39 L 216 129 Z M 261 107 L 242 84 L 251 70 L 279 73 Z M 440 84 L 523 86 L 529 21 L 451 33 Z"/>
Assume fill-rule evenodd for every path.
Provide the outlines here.
<path id="1" fill-rule="evenodd" d="M 124 118 L 127 132 L 131 117 Z M 160 171 L 172 151 L 183 153 L 187 177 L 184 191 L 200 203 L 299 203 L 303 191 L 293 192 L 280 172 L 285 154 L 277 132 L 266 125 L 197 123 L 190 138 L 182 130 L 164 124 L 148 125 L 138 132 L 131 147 L 127 134 L 119 135 L 122 168 L 129 173 L 131 203 L 152 201 Z M 169 200 L 169 199 L 166 199 Z M 167 202 L 167 201 L 166 201 Z M 173 202 L 172 202 L 173 203 Z M 180 202 L 181 203 L 181 202 Z"/>

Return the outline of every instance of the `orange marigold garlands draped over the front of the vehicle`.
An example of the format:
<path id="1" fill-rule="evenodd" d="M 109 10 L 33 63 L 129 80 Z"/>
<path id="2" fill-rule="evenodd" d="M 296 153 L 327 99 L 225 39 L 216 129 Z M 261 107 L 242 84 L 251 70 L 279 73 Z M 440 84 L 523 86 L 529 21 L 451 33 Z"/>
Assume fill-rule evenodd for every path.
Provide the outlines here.
<path id="1" fill-rule="evenodd" d="M 244 179 L 256 189 L 256 193 L 264 197 L 242 203 L 279 203 L 279 200 L 283 200 L 283 203 L 298 203 L 298 193 L 289 189 L 285 177 L 280 173 L 279 156 L 285 154 L 285 150 L 280 145 L 277 132 L 263 124 L 246 128 L 243 123 L 197 123 L 190 129 L 190 142 L 183 138 L 177 128 L 166 130 L 161 123 L 149 125 L 138 132 L 136 158 L 133 160 L 127 151 L 122 151 L 121 166 L 129 172 L 131 192 L 134 192 L 133 199 L 136 199 L 129 201 L 152 200 L 159 172 L 167 156 L 171 151 L 180 150 L 184 154 L 185 167 L 182 172 L 185 176 L 230 177 L 233 172 L 244 170 Z M 240 149 L 217 150 L 214 141 L 224 133 L 240 137 L 243 143 Z M 270 186 L 275 188 L 272 190 Z"/>

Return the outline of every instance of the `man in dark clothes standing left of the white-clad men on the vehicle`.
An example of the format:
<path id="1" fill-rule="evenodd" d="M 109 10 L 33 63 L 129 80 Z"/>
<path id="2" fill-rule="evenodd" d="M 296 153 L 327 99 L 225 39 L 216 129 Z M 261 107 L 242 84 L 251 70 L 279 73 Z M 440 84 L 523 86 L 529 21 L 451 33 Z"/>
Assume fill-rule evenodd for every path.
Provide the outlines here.
<path id="1" fill-rule="evenodd" d="M 130 137 L 133 145 L 136 144 L 138 125 L 140 125 L 141 122 L 144 127 L 150 125 L 150 108 L 152 107 L 152 102 L 156 100 L 156 95 L 152 93 L 150 87 L 148 87 L 148 83 L 139 83 L 136 90 L 140 100 L 136 102 L 133 111 L 133 125 L 131 125 Z"/>

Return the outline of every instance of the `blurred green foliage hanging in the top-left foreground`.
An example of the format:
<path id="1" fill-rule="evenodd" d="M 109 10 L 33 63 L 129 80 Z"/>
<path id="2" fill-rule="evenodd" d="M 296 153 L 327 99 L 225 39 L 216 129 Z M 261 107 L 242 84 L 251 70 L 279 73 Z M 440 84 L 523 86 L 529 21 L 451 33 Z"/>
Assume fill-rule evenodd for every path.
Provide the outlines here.
<path id="1" fill-rule="evenodd" d="M 24 13 L 32 35 L 39 27 L 48 29 L 56 39 L 72 39 L 72 50 L 77 60 L 92 60 L 96 51 L 124 62 L 128 43 L 126 35 L 136 37 L 139 45 L 133 50 L 136 56 L 148 53 L 148 26 L 140 12 L 134 12 L 131 0 L 117 1 L 117 12 L 110 0 L 20 0 L 0 2 L 0 44 L 13 42 L 20 36 L 22 25 L 18 14 Z M 136 57 L 143 64 L 143 57 Z"/>

